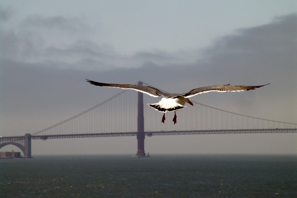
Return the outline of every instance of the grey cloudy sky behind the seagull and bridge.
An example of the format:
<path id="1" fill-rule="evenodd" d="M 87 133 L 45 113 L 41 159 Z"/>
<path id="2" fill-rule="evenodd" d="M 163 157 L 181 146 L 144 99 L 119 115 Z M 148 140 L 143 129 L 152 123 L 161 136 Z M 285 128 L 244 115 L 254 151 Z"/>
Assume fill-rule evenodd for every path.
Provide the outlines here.
<path id="1" fill-rule="evenodd" d="M 120 91 L 89 85 L 84 78 L 141 80 L 175 93 L 271 83 L 192 100 L 297 123 L 295 0 L 0 0 L 0 13 L 0 136 L 32 134 Z M 146 137 L 145 151 L 297 154 L 296 140 L 297 134 L 156 136 Z M 1 151 L 11 149 L 18 151 L 12 145 Z M 32 141 L 33 156 L 136 151 L 136 137 Z"/>

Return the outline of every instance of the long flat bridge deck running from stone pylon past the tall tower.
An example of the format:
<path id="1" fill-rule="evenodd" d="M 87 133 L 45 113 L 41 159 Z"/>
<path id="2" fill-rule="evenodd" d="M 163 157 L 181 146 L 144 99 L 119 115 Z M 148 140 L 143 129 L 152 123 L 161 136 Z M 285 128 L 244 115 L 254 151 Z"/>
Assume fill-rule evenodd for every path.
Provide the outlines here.
<path id="1" fill-rule="evenodd" d="M 227 130 L 200 130 L 200 131 L 155 131 L 143 132 L 144 135 L 194 135 L 194 134 L 234 134 L 234 133 L 297 133 L 297 129 L 227 129 Z M 76 137 L 117 137 L 117 136 L 137 136 L 139 132 L 117 132 L 117 133 L 88 133 L 88 134 L 62 134 L 62 135 L 32 135 L 32 140 L 47 140 L 59 138 Z M 11 138 L 11 137 L 10 137 Z"/>

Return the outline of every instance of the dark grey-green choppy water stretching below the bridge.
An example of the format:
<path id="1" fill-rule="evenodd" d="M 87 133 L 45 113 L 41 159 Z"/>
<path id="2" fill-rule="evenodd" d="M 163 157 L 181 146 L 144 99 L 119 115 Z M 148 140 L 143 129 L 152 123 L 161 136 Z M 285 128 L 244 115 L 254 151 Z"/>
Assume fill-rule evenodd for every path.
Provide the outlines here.
<path id="1" fill-rule="evenodd" d="M 0 197 L 297 197 L 297 156 L 0 159 Z"/>

